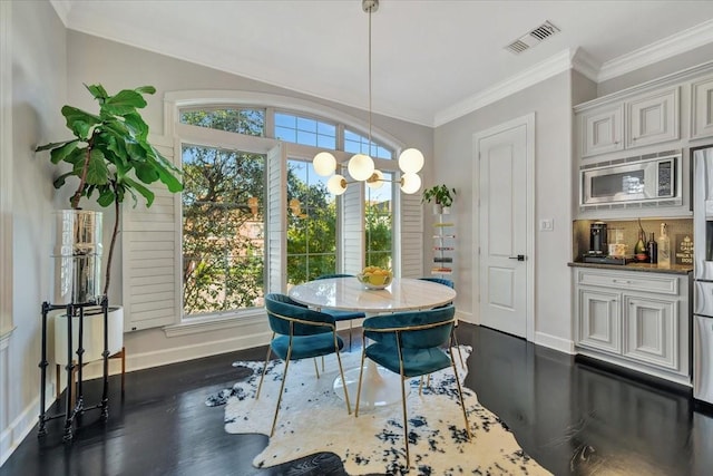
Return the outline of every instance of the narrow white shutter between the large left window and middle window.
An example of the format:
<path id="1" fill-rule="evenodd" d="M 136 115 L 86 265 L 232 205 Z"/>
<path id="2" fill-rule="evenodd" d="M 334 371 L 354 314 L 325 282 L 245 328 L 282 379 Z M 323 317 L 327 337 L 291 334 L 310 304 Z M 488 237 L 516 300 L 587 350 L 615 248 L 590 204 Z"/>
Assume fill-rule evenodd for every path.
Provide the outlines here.
<path id="1" fill-rule="evenodd" d="M 267 153 L 267 273 L 266 292 L 287 289 L 287 161 L 282 144 Z"/>

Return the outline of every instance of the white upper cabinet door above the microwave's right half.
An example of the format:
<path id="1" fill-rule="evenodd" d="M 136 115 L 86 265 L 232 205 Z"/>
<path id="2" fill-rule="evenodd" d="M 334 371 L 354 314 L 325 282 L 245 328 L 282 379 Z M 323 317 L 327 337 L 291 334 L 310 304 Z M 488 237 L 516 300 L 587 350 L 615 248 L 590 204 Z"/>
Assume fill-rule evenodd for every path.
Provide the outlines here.
<path id="1" fill-rule="evenodd" d="M 626 103 L 626 148 L 677 140 L 678 88 Z"/>

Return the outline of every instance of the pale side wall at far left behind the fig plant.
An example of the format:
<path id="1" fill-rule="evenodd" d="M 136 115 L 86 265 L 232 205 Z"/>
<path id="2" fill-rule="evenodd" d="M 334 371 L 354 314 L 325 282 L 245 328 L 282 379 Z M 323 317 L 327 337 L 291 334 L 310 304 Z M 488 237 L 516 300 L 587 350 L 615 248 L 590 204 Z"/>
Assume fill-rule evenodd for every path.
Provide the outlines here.
<path id="1" fill-rule="evenodd" d="M 37 145 L 64 128 L 59 115 L 66 94 L 66 30 L 48 2 L 11 2 L 12 60 L 12 324 L 7 341 L 8 388 L 0 389 L 7 420 L 0 463 L 39 415 L 41 303 L 51 299 L 52 169 L 35 156 Z M 4 107 L 4 105 L 3 105 Z M 4 127 L 4 125 L 3 125 Z M 53 373 L 53 366 L 51 367 Z M 53 388 L 48 388 L 52 395 Z"/>

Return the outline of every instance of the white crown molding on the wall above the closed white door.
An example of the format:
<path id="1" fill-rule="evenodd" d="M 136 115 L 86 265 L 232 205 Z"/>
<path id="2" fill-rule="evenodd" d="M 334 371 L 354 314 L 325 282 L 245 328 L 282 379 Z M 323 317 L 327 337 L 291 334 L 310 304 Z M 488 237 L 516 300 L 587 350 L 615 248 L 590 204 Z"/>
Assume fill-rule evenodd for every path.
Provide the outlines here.
<path id="1" fill-rule="evenodd" d="M 433 126 L 439 127 L 466 114 L 478 110 L 489 104 L 498 101 L 547 78 L 567 71 L 572 68 L 572 50 L 566 49 L 554 55 L 531 68 L 525 69 L 508 79 L 498 82 L 482 93 L 440 110 L 433 118 Z"/>

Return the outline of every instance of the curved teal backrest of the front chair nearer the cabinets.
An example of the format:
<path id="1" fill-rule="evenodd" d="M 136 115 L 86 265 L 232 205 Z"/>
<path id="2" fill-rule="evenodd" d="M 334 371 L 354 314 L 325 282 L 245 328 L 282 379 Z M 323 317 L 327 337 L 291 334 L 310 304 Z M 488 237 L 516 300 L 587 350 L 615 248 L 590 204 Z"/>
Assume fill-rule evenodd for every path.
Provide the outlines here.
<path id="1" fill-rule="evenodd" d="M 397 344 L 407 349 L 428 349 L 450 342 L 456 322 L 456 308 L 426 309 L 421 311 L 394 312 L 368 318 L 362 323 L 364 334 L 383 344 Z"/>

